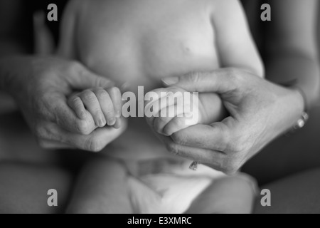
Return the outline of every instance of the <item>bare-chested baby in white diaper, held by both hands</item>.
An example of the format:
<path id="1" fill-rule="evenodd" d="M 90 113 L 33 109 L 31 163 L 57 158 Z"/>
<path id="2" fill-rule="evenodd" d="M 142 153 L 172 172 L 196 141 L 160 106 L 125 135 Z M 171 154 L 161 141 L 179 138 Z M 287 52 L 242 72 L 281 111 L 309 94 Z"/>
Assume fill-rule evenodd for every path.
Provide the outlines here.
<path id="1" fill-rule="evenodd" d="M 235 67 L 263 76 L 263 66 L 237 0 L 74 0 L 65 11 L 58 55 L 76 59 L 127 90 L 161 89 L 161 79 Z M 160 89 L 159 89 L 160 88 Z M 156 90 L 155 90 L 156 89 Z M 68 101 L 78 118 L 97 128 L 124 124 L 119 88 L 91 88 Z M 198 95 L 199 118 L 223 118 L 218 95 Z M 160 111 L 160 110 L 159 110 Z M 187 114 L 187 113 L 185 113 Z M 184 117 L 186 118 L 186 117 Z M 149 121 L 150 122 L 150 121 Z M 188 125 L 181 118 L 152 118 L 170 137 Z M 146 120 L 129 118 L 124 135 L 83 171 L 70 212 L 248 213 L 254 181 L 233 177 L 166 152 Z"/>

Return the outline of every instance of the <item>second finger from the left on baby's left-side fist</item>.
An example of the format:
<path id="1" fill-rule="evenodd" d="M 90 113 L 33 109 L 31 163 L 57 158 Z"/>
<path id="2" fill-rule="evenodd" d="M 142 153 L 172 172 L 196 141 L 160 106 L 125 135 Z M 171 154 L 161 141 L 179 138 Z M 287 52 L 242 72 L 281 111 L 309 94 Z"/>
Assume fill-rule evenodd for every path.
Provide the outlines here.
<path id="1" fill-rule="evenodd" d="M 85 90 L 85 92 L 81 93 L 80 98 L 89 113 L 91 113 L 95 124 L 100 128 L 105 127 L 107 121 L 105 120 L 105 115 L 102 113 L 99 100 L 95 93 L 90 90 Z"/>

